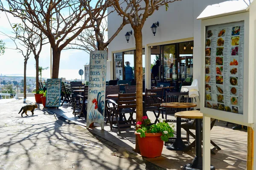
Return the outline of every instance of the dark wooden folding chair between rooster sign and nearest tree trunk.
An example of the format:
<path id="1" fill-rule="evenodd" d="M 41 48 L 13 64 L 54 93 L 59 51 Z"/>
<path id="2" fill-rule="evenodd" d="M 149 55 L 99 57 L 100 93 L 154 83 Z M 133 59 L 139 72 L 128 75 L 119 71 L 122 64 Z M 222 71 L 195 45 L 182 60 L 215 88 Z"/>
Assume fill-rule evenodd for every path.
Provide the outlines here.
<path id="1" fill-rule="evenodd" d="M 109 99 L 113 104 L 113 116 L 110 123 L 110 129 L 112 130 L 113 123 L 116 122 L 119 133 L 120 127 L 130 127 L 136 124 L 136 120 L 133 118 L 133 113 L 136 109 L 136 93 L 124 93 L 118 94 L 117 102 Z M 128 119 L 125 114 L 129 114 Z M 114 117 L 116 120 L 114 121 Z"/>

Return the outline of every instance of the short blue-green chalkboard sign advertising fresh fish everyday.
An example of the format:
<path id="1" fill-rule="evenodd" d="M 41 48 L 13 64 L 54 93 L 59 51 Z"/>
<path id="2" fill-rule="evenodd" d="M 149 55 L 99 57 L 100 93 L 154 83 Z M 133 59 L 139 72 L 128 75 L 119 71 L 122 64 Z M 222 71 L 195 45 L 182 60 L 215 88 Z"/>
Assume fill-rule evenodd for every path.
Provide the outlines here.
<path id="1" fill-rule="evenodd" d="M 46 107 L 59 107 L 61 102 L 61 79 L 47 79 Z"/>

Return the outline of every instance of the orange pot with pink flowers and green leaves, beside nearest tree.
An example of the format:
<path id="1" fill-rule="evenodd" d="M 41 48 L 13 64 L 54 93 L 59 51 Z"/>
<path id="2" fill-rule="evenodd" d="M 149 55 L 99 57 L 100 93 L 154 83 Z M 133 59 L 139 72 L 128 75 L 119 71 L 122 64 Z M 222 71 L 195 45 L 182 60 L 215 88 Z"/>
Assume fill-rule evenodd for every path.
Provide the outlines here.
<path id="1" fill-rule="evenodd" d="M 165 119 L 158 118 L 157 124 L 151 124 L 147 116 L 143 116 L 143 121 L 138 121 L 136 126 L 139 128 L 135 135 L 138 137 L 140 154 L 148 158 L 161 156 L 163 150 L 163 141 L 168 141 L 173 137 L 173 124 L 168 124 Z"/>

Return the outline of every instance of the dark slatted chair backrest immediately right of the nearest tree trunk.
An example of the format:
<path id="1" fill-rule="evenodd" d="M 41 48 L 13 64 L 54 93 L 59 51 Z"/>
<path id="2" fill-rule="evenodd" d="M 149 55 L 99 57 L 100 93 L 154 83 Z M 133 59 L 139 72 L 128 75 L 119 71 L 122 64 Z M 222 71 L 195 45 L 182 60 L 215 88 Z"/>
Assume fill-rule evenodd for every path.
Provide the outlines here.
<path id="1" fill-rule="evenodd" d="M 145 91 L 145 107 L 160 107 L 163 102 L 163 88 L 146 89 Z"/>

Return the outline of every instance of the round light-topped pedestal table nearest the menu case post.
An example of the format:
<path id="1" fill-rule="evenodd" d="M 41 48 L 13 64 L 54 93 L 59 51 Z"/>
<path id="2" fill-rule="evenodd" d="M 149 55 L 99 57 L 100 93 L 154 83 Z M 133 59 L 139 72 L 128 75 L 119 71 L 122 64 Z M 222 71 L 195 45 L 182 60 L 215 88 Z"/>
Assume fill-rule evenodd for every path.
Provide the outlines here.
<path id="1" fill-rule="evenodd" d="M 175 113 L 177 118 L 195 118 L 195 158 L 192 163 L 184 165 L 184 170 L 203 170 L 203 157 L 201 148 L 201 119 L 203 113 L 198 110 L 183 111 Z M 211 165 L 211 170 L 215 168 Z"/>

